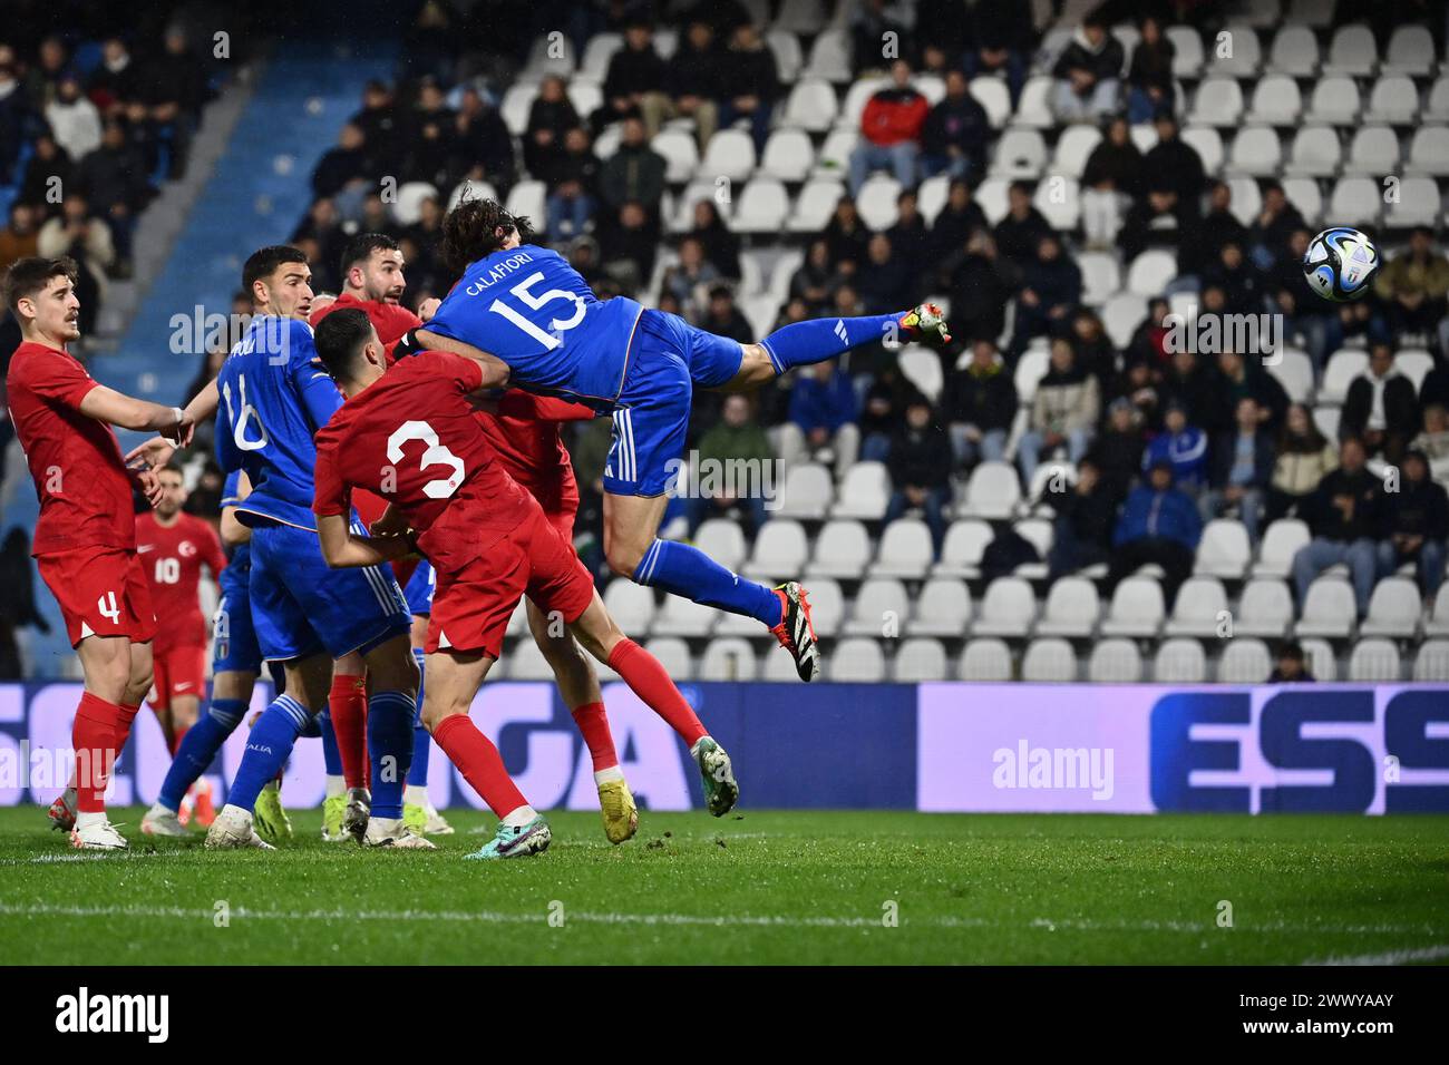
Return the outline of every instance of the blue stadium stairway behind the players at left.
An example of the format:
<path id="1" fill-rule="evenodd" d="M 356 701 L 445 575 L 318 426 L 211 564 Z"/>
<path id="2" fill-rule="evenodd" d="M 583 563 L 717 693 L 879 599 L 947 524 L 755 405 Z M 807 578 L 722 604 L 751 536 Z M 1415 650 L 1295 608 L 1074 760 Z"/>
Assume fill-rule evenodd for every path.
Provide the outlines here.
<path id="1" fill-rule="evenodd" d="M 385 42 L 358 55 L 330 49 L 319 55 L 314 43 L 281 45 L 249 85 L 239 80 L 241 91 L 213 104 L 233 113 L 209 114 L 219 122 L 216 128 L 207 123 L 197 138 L 193 158 L 199 165 L 171 183 L 138 223 L 141 281 L 116 293 L 101 312 L 100 332 L 119 332 L 119 341 L 109 354 L 109 342 L 97 345 L 90 365 L 96 380 L 158 403 L 181 403 L 201 364 L 203 352 L 193 341 L 197 314 L 227 314 L 246 256 L 291 235 L 312 203 L 317 159 L 358 109 L 364 84 L 390 77 L 396 58 L 397 49 Z M 185 322 L 180 329 L 178 314 Z M 123 449 L 143 439 L 117 435 Z M 23 465 L 9 472 L 0 525 L 33 529 L 39 509 L 29 475 Z M 59 609 L 39 577 L 35 590 L 51 632 L 19 635 L 29 674 L 78 677 Z"/>

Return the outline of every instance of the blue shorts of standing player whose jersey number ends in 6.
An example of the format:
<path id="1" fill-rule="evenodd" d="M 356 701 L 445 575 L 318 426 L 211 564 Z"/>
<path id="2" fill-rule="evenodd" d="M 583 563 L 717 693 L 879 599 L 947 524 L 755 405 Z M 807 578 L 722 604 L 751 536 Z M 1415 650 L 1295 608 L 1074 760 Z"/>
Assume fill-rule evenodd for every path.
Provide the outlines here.
<path id="1" fill-rule="evenodd" d="M 371 651 L 412 629 L 390 567 L 332 569 L 317 533 L 290 525 L 252 529 L 252 623 L 267 661 L 326 651 Z"/>

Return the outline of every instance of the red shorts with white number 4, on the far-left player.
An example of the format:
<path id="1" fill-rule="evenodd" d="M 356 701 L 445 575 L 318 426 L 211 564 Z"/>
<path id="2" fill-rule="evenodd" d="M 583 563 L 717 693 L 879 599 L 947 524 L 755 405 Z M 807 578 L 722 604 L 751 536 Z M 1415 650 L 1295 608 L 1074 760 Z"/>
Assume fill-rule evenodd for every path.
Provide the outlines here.
<path id="1" fill-rule="evenodd" d="M 61 604 L 72 648 L 87 636 L 129 636 L 133 643 L 145 643 L 156 635 L 151 584 L 135 551 L 58 551 L 36 555 L 35 565 Z"/>

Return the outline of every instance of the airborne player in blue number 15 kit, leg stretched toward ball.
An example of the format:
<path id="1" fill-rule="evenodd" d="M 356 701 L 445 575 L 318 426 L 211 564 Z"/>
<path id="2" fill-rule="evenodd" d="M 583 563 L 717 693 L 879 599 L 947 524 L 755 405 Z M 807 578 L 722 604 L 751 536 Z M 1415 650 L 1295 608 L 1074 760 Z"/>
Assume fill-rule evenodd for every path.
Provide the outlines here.
<path id="1" fill-rule="evenodd" d="M 940 310 L 830 317 L 739 343 L 677 314 L 596 298 L 558 252 L 532 243 L 527 219 L 464 200 L 442 225 L 442 256 L 462 278 L 404 351 L 433 348 L 484 364 L 484 383 L 562 396 L 613 414 L 604 467 L 610 569 L 696 603 L 756 617 L 791 652 L 801 680 L 820 674 L 806 590 L 746 581 L 688 543 L 658 539 L 696 388 L 748 391 L 794 367 L 877 341 L 949 341 Z"/>

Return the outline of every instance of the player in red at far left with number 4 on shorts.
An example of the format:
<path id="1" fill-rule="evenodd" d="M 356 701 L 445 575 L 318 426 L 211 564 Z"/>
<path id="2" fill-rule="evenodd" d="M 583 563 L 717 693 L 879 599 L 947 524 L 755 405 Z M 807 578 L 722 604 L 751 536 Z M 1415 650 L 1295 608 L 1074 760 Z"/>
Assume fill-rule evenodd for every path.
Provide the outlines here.
<path id="1" fill-rule="evenodd" d="M 97 384 L 67 351 L 80 338 L 77 277 L 75 261 L 64 256 L 10 267 L 4 300 L 23 342 L 10 358 L 6 390 L 41 498 L 32 554 L 85 675 L 71 730 L 75 772 L 51 804 L 51 823 L 70 830 L 72 846 L 123 849 L 126 838 L 106 817 L 104 793 L 151 688 L 156 632 L 136 555 L 132 488 L 155 503 L 159 485 L 154 472 L 126 468 L 112 426 L 184 442 L 191 419 Z"/>

